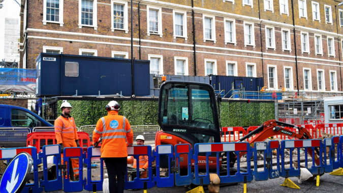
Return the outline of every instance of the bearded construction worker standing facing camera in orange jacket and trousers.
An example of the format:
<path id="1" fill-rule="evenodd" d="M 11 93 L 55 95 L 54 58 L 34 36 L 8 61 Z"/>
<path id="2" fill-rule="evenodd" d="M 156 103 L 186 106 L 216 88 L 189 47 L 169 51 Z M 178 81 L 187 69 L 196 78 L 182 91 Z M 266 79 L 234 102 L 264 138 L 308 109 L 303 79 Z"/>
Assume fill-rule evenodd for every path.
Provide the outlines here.
<path id="1" fill-rule="evenodd" d="M 63 103 L 60 106 L 60 109 L 62 111 L 62 114 L 55 120 L 55 136 L 57 144 L 60 145 L 60 150 L 63 158 L 64 147 L 80 147 L 80 144 L 79 138 L 77 137 L 77 128 L 75 125 L 75 120 L 72 116 L 70 116 L 72 106 L 67 101 L 63 101 Z M 63 160 L 62 163 L 64 163 Z M 69 160 L 69 171 L 70 179 L 73 181 L 78 181 L 78 158 L 71 158 L 71 160 Z"/>

